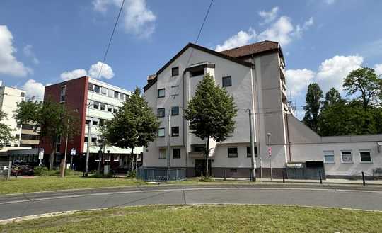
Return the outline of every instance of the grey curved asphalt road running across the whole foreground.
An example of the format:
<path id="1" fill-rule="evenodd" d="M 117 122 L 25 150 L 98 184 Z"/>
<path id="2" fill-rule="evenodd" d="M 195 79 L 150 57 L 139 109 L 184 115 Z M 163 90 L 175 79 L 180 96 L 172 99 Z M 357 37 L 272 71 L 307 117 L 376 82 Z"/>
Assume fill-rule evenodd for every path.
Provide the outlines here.
<path id="1" fill-rule="evenodd" d="M 2 195 L 0 220 L 50 212 L 132 205 L 222 203 L 382 210 L 382 191 L 308 186 L 163 186 Z"/>

